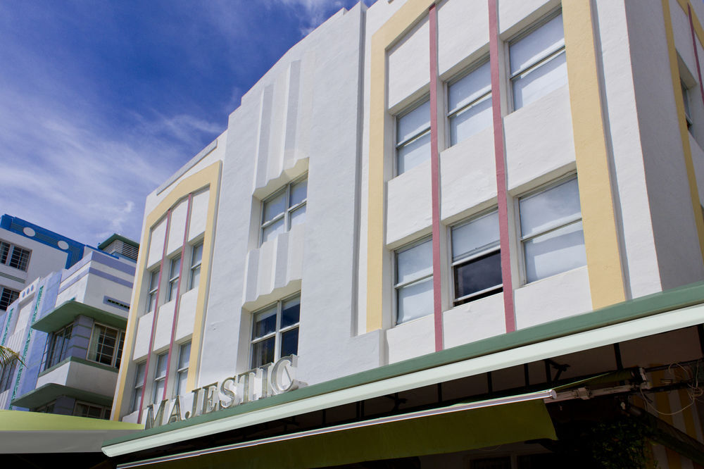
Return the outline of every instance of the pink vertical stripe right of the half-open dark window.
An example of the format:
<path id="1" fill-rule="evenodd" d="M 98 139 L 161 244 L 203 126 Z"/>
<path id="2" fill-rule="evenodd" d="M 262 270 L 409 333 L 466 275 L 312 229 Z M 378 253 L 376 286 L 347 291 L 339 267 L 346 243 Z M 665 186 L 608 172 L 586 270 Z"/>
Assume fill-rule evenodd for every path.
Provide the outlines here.
<path id="1" fill-rule="evenodd" d="M 489 61 L 491 66 L 491 108 L 494 111 L 494 156 L 496 158 L 496 196 L 498 199 L 498 231 L 501 242 L 501 277 L 503 278 L 503 310 L 506 332 L 516 330 L 511 282 L 511 255 L 508 239 L 508 194 L 506 189 L 506 161 L 503 147 L 503 119 L 501 118 L 501 80 L 498 70 L 498 14 L 496 1 L 489 0 Z"/>

